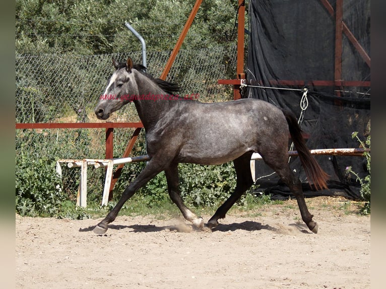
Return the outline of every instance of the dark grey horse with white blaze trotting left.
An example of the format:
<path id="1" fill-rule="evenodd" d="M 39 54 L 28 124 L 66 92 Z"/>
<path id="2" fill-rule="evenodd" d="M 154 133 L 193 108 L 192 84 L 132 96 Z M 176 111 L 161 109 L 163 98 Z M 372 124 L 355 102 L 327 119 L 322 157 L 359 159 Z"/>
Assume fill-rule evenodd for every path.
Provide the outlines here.
<path id="1" fill-rule="evenodd" d="M 201 230 L 213 230 L 219 219 L 253 184 L 249 162 L 253 153 L 259 153 L 290 188 L 296 197 L 301 218 L 308 229 L 317 233 L 304 200 L 300 180 L 292 173 L 288 160 L 288 137 L 298 151 L 307 180 L 316 190 L 326 189 L 328 175 L 309 153 L 296 116 L 266 101 L 239 99 L 220 103 L 203 103 L 181 99 L 174 95 L 175 83 L 154 78 L 146 67 L 112 59 L 115 67 L 104 96 L 95 107 L 98 119 L 106 120 L 112 112 L 134 102 L 146 131 L 147 154 L 150 161 L 123 191 L 116 205 L 93 232 L 104 234 L 123 204 L 157 174 L 164 171 L 168 194 L 185 220 Z M 237 182 L 229 198 L 216 210 L 205 225 L 183 203 L 178 189 L 178 163 L 220 165 L 233 161 Z"/>

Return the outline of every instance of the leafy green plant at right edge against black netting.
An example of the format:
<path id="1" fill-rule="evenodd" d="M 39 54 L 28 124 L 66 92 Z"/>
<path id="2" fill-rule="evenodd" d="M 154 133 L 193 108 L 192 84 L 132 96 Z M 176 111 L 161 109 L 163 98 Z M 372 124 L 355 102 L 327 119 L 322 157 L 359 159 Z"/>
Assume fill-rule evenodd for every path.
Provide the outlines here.
<path id="1" fill-rule="evenodd" d="M 366 137 L 366 140 L 361 140 L 358 137 L 358 132 L 355 131 L 352 133 L 352 138 L 356 138 L 358 142 L 360 143 L 362 148 L 370 149 L 370 130 L 369 134 Z M 352 167 L 349 166 L 346 168 L 346 173 L 350 177 L 351 174 L 353 174 L 356 177 L 356 181 L 358 181 L 361 185 L 360 194 L 363 200 L 365 201 L 364 205 L 361 207 L 361 213 L 362 214 L 370 214 L 370 193 L 371 193 L 371 184 L 370 184 L 370 152 L 364 152 L 363 156 L 366 158 L 366 169 L 368 174 L 361 178 L 356 172 L 353 171 Z"/>

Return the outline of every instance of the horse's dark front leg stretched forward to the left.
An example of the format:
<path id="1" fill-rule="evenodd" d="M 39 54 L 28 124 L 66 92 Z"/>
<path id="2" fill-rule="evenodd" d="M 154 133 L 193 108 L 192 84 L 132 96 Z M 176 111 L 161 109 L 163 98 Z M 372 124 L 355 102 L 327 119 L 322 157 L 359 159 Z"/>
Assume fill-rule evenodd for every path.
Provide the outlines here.
<path id="1" fill-rule="evenodd" d="M 153 160 L 153 159 L 152 159 Z M 162 168 L 155 164 L 155 161 L 150 160 L 148 165 L 142 170 L 142 172 L 138 175 L 138 177 L 134 180 L 133 183 L 128 185 L 119 201 L 113 207 L 113 209 L 107 214 L 106 218 L 104 218 L 93 230 L 95 234 L 104 234 L 106 233 L 108 227 L 107 225 L 113 222 L 118 215 L 119 210 L 122 208 L 123 204 L 131 198 L 134 193 L 145 185 L 149 180 L 154 178 L 158 173 L 162 171 Z"/>

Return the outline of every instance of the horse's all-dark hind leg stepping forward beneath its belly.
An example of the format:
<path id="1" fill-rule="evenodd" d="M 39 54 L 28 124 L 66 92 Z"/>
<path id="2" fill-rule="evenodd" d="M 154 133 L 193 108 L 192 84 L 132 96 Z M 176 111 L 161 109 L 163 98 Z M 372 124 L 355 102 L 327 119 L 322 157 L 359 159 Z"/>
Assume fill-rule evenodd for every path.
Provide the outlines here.
<path id="1" fill-rule="evenodd" d="M 246 153 L 233 161 L 236 170 L 237 183 L 236 188 L 229 198 L 216 210 L 215 214 L 208 221 L 207 226 L 211 229 L 218 226 L 218 219 L 224 219 L 227 211 L 241 197 L 241 195 L 253 184 L 250 173 L 250 157 L 252 153 Z"/>

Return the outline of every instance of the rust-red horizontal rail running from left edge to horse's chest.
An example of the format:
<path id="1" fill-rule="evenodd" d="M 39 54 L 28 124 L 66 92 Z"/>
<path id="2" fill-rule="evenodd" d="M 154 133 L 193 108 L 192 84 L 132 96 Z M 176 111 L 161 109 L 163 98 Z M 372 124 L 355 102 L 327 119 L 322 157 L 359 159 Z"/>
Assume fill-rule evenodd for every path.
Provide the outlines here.
<path id="1" fill-rule="evenodd" d="M 144 127 L 142 122 L 38 122 L 16 123 L 16 129 L 35 128 L 137 128 Z"/>

